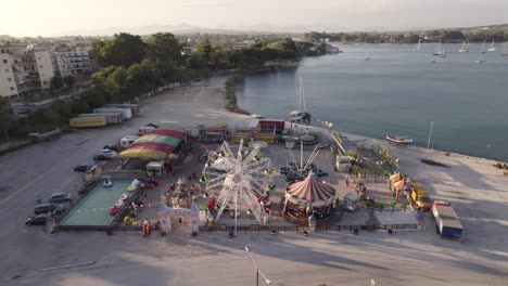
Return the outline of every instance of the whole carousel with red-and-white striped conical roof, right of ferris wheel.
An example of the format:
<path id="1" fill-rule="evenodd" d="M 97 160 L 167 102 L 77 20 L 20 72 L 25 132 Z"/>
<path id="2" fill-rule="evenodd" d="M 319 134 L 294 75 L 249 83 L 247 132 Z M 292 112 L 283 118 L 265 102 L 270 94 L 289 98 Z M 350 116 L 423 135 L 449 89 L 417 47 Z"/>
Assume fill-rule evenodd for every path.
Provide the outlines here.
<path id="1" fill-rule="evenodd" d="M 323 220 L 332 214 L 334 199 L 333 186 L 310 172 L 305 180 L 288 184 L 282 211 L 302 222 L 306 222 L 313 213 L 317 220 Z"/>

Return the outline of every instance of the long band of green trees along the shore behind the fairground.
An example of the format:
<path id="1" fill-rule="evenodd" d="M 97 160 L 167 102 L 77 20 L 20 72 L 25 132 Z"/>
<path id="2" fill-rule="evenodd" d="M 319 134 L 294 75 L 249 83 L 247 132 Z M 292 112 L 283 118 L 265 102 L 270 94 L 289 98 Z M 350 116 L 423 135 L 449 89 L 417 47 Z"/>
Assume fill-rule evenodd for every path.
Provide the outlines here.
<path id="1" fill-rule="evenodd" d="M 256 67 L 270 60 L 296 60 L 309 53 L 310 46 L 290 38 L 258 40 L 252 47 L 233 50 L 227 44 L 205 40 L 192 55 L 181 54 L 182 46 L 169 32 L 157 32 L 145 41 L 140 36 L 120 32 L 109 40 L 92 42 L 92 52 L 103 67 L 91 76 L 92 87 L 72 102 L 54 101 L 49 108 L 34 110 L 13 119 L 8 101 L 0 102 L 0 131 L 7 138 L 23 138 L 29 132 L 66 127 L 68 119 L 107 103 L 132 101 L 143 92 L 175 81 L 206 77 L 209 73 Z M 322 48 L 322 47 L 321 47 Z M 313 51 L 314 53 L 319 52 Z M 54 77 L 53 90 L 71 87 L 71 78 Z M 7 120 L 5 118 L 10 118 Z"/>

